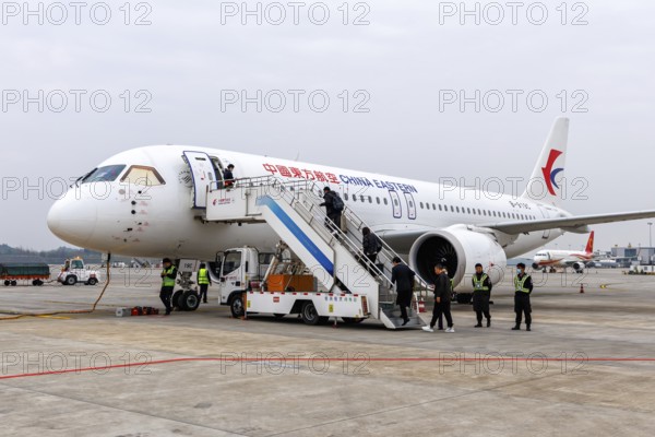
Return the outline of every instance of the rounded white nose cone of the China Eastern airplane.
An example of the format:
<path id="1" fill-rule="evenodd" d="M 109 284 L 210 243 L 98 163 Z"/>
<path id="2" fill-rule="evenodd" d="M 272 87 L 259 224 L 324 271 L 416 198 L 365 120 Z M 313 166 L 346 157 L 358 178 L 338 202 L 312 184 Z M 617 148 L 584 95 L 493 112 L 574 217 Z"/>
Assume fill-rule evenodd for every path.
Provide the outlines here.
<path id="1" fill-rule="evenodd" d="M 93 201 L 64 197 L 48 212 L 50 232 L 74 246 L 84 247 L 95 231 L 97 209 Z"/>

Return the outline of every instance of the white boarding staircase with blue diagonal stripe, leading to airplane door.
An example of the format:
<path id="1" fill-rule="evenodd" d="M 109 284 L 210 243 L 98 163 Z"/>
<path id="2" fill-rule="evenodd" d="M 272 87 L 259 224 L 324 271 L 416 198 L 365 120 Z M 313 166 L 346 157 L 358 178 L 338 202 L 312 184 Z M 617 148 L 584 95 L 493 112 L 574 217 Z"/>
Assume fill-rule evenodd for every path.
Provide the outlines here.
<path id="1" fill-rule="evenodd" d="M 391 283 L 392 259 L 397 255 L 384 241 L 378 264 L 361 251 L 366 223 L 347 205 L 337 228 L 320 206 L 322 187 L 311 180 L 288 181 L 274 176 L 239 179 L 229 188 L 211 185 L 204 220 L 218 223 L 267 223 L 317 280 L 331 293 L 367 296 L 372 318 L 389 329 L 425 326 L 413 299 L 409 322 L 403 324 Z M 416 276 L 417 286 L 427 284 Z"/>

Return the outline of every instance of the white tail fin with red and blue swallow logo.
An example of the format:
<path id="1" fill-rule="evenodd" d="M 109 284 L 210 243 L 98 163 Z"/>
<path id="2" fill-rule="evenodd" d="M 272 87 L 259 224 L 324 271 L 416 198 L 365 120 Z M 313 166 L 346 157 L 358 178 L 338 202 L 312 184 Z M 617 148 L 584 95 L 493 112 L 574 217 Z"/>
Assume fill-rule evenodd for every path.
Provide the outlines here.
<path id="1" fill-rule="evenodd" d="M 555 120 L 541 155 L 527 182 L 523 198 L 557 205 L 564 196 L 564 164 L 569 140 L 569 119 Z"/>

